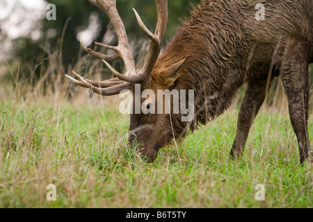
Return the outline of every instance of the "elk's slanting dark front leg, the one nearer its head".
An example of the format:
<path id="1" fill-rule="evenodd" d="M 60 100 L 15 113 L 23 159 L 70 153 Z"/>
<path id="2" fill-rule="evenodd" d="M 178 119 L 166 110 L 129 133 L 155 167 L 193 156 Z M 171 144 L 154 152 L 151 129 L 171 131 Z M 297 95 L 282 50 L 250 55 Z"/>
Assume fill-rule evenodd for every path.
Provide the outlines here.
<path id="1" fill-rule="evenodd" d="M 243 154 L 252 122 L 264 102 L 266 89 L 269 89 L 272 80 L 273 78 L 268 82 L 266 78 L 262 78 L 248 81 L 246 94 L 239 110 L 236 137 L 232 145 L 232 151 L 230 151 L 232 159 Z M 266 87 L 267 84 L 269 85 Z"/>

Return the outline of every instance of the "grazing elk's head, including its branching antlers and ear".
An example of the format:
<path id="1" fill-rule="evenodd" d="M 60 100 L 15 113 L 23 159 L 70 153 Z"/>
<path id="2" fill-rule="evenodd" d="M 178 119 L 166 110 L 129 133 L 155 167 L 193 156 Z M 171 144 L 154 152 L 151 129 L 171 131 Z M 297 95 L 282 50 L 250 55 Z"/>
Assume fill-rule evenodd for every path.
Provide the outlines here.
<path id="1" fill-rule="evenodd" d="M 113 55 L 104 55 L 102 53 L 95 52 L 88 49 L 82 43 L 81 46 L 91 56 L 95 56 L 96 58 L 103 60 L 106 67 L 108 67 L 117 77 L 111 80 L 94 81 L 83 78 L 73 71 L 78 80 L 66 75 L 67 78 L 70 78 L 70 80 L 77 85 L 80 85 L 81 87 L 88 87 L 92 89 L 93 92 L 103 96 L 112 96 L 120 94 L 123 89 L 131 89 L 134 101 L 136 100 L 136 94 L 134 93 L 135 85 L 141 85 L 141 92 L 145 89 L 150 89 L 155 95 L 157 95 L 157 91 L 160 89 L 172 89 L 175 80 L 177 80 L 177 78 L 179 78 L 182 74 L 187 58 L 172 62 L 172 64 L 167 67 L 163 67 L 162 62 L 157 62 L 161 51 L 161 42 L 163 40 L 168 21 L 168 2 L 166 0 L 156 0 L 158 17 L 157 27 L 154 34 L 146 28 L 141 20 L 141 17 L 139 17 L 136 10 L 134 10 L 139 26 L 145 35 L 147 35 L 147 37 L 151 40 L 143 68 L 136 70 L 134 58 L 129 49 L 125 26 L 120 18 L 120 15 L 118 14 L 118 10 L 116 9 L 115 0 L 89 1 L 95 4 L 98 8 L 104 10 L 106 15 L 109 16 L 109 19 L 111 19 L 118 37 L 118 46 L 109 46 L 97 42 L 95 43 L 99 46 L 105 47 L 106 49 L 114 50 L 115 54 Z M 120 74 L 108 63 L 119 59 L 122 59 L 125 64 L 126 74 Z M 159 103 L 158 101 L 163 101 L 163 96 L 162 98 L 155 96 L 154 98 L 151 97 L 145 101 L 141 101 L 140 107 L 143 108 L 143 110 L 150 110 L 152 106 L 157 106 L 157 103 Z M 173 101 L 171 100 L 170 103 L 172 102 Z M 179 135 L 184 134 L 184 129 L 173 130 L 172 122 L 177 120 L 171 116 L 171 113 L 165 114 L 158 112 L 157 114 L 144 114 L 142 109 L 140 112 L 135 112 L 135 102 L 133 102 L 132 106 L 134 112 L 132 112 L 130 119 L 129 143 L 138 143 L 139 151 L 141 151 L 143 155 L 147 156 L 147 159 L 152 162 L 157 156 L 159 148 L 169 144 L 173 138 L 175 139 L 175 135 L 179 137 Z M 173 104 L 170 104 L 170 107 L 172 106 Z"/>

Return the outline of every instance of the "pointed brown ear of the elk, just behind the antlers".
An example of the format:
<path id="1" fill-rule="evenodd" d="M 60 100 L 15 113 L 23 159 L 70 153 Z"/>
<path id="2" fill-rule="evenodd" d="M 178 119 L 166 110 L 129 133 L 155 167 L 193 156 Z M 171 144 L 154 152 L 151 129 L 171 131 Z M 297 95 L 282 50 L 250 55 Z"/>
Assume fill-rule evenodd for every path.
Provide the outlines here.
<path id="1" fill-rule="evenodd" d="M 182 75 L 182 71 L 188 62 L 189 56 L 184 60 L 180 60 L 179 62 L 174 63 L 170 67 L 167 67 L 164 71 L 162 71 L 161 78 L 162 83 L 164 85 L 173 85 L 175 80 Z"/>

